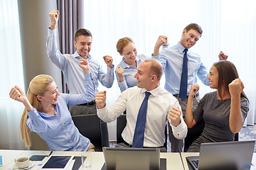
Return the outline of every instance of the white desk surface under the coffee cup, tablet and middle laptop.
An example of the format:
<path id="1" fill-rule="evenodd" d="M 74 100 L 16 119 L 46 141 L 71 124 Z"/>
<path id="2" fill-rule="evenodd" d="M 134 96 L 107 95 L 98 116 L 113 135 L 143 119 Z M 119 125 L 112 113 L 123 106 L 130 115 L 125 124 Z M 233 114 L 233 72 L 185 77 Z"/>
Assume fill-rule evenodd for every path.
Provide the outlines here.
<path id="1" fill-rule="evenodd" d="M 31 150 L 1 150 L 5 162 L 1 169 L 12 169 L 14 159 L 18 157 L 31 157 L 33 154 L 50 154 L 50 151 L 31 151 Z M 74 155 L 81 156 L 82 152 L 59 152 L 55 151 L 52 155 Z M 166 169 L 183 170 L 181 156 L 179 153 L 160 153 L 161 158 L 166 158 Z M 92 152 L 92 170 L 100 170 L 105 162 L 103 152 Z"/>

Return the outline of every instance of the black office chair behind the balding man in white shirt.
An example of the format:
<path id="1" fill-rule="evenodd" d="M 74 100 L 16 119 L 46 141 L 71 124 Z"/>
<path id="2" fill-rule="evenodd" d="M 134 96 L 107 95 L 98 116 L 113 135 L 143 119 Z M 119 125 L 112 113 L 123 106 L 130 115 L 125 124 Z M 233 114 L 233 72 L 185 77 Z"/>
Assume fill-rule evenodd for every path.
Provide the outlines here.
<path id="1" fill-rule="evenodd" d="M 127 125 L 126 114 L 119 115 L 119 117 L 117 118 L 117 143 L 124 142 L 124 139 L 122 138 L 122 131 L 124 130 L 126 125 Z M 167 151 L 167 124 L 164 130 L 164 134 L 166 137 L 166 140 L 164 142 L 164 147 L 166 148 L 166 151 Z"/>

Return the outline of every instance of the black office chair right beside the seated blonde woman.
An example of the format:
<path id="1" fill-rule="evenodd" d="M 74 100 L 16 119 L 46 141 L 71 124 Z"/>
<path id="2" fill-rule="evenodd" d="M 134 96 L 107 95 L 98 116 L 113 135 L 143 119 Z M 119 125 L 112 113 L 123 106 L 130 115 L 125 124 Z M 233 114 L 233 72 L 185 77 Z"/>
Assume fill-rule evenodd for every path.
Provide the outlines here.
<path id="1" fill-rule="evenodd" d="M 105 133 L 108 134 L 107 124 L 103 128 L 105 132 L 102 132 L 102 124 L 97 114 L 72 115 L 72 119 L 79 132 L 95 145 L 95 151 L 102 152 L 102 147 L 110 147 L 108 139 L 103 137 Z"/>

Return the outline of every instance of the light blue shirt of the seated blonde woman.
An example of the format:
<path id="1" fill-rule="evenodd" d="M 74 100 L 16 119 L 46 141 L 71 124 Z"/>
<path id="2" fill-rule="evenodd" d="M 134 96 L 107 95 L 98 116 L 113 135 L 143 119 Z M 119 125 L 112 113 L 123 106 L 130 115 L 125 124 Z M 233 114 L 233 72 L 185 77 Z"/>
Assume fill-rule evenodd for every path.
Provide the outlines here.
<path id="1" fill-rule="evenodd" d="M 85 87 L 86 94 L 60 94 L 54 109 L 55 115 L 38 112 L 36 108 L 28 111 L 28 128 L 45 140 L 51 150 L 87 151 L 89 148 L 90 140 L 75 127 L 67 107 L 93 100 L 95 86 L 91 74 L 85 74 Z"/>

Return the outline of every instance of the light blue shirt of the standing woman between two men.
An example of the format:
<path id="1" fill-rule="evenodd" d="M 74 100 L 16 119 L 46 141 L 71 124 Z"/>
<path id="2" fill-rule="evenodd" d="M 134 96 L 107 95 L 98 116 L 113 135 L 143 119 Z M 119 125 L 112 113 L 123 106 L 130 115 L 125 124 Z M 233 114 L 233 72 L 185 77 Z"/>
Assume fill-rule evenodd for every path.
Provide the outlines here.
<path id="1" fill-rule="evenodd" d="M 149 59 L 150 57 L 146 57 L 145 55 L 137 55 L 136 62 L 137 67 L 139 67 L 139 64 L 141 64 L 144 60 Z M 124 70 L 124 81 L 119 82 L 119 76 L 117 75 L 117 72 L 115 72 L 117 76 L 117 83 L 119 85 L 120 91 L 125 91 L 129 87 L 133 87 L 137 85 L 137 79 L 134 78 L 134 75 L 137 73 L 137 67 L 134 67 L 132 65 L 126 64 L 124 62 L 124 58 L 122 61 L 117 65 L 116 69 L 120 67 Z"/>

